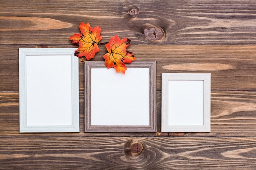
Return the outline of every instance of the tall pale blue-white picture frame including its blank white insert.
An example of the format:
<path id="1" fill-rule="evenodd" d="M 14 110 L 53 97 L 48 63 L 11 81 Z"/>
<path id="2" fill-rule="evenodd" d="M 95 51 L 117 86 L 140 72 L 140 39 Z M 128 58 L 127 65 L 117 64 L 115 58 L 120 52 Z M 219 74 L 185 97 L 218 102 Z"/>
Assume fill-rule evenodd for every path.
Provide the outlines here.
<path id="1" fill-rule="evenodd" d="M 79 132 L 76 48 L 20 48 L 20 132 Z"/>

